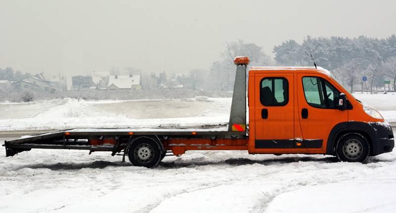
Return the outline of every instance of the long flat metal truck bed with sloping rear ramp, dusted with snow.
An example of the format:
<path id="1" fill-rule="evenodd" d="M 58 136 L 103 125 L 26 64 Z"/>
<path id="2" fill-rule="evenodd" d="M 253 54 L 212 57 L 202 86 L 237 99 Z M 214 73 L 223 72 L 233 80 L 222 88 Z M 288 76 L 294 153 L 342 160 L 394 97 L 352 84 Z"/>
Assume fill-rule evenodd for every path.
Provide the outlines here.
<path id="1" fill-rule="evenodd" d="M 72 128 L 45 133 L 24 135 L 19 139 L 4 141 L 6 156 L 31 149 L 76 149 L 120 152 L 137 136 L 165 139 L 191 138 L 245 138 L 246 131 L 228 131 L 227 126 L 186 128 Z M 172 146 L 172 144 L 171 144 Z"/>

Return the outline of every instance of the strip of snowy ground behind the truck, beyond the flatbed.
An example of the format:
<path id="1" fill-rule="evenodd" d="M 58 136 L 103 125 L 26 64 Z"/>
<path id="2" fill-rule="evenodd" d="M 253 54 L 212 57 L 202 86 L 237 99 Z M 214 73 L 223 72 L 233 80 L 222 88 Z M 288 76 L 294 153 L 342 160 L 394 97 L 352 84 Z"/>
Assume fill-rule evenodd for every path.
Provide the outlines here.
<path id="1" fill-rule="evenodd" d="M 354 94 L 396 122 L 396 93 Z M 85 101 L 54 99 L 0 103 L 0 130 L 199 127 L 228 123 L 231 98 Z"/>

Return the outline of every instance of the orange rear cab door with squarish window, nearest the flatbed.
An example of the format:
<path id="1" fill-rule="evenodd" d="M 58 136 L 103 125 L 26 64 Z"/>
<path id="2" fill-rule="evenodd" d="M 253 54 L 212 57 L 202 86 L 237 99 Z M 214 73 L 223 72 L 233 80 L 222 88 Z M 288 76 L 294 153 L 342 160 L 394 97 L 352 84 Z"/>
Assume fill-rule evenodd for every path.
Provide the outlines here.
<path id="1" fill-rule="evenodd" d="M 293 80 L 293 73 L 255 74 L 255 153 L 284 152 L 285 148 L 293 148 Z"/>

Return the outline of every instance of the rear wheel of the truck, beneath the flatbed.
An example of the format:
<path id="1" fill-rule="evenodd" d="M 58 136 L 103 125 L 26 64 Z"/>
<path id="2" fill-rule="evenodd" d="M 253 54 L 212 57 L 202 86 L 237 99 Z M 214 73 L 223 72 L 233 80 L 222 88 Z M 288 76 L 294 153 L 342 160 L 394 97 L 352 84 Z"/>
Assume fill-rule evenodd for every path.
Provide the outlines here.
<path id="1" fill-rule="evenodd" d="M 151 138 L 137 138 L 128 149 L 128 158 L 134 166 L 153 168 L 161 161 L 161 146 Z"/>

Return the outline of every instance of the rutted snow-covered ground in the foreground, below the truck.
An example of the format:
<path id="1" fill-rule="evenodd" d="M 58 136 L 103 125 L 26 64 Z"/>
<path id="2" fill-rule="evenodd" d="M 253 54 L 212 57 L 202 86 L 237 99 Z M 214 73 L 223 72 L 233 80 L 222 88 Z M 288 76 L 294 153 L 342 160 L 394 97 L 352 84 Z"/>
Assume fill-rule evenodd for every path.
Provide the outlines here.
<path id="1" fill-rule="evenodd" d="M 395 212 L 396 152 L 366 164 L 322 155 L 188 151 L 146 169 L 109 153 L 0 158 L 0 212 Z"/>

